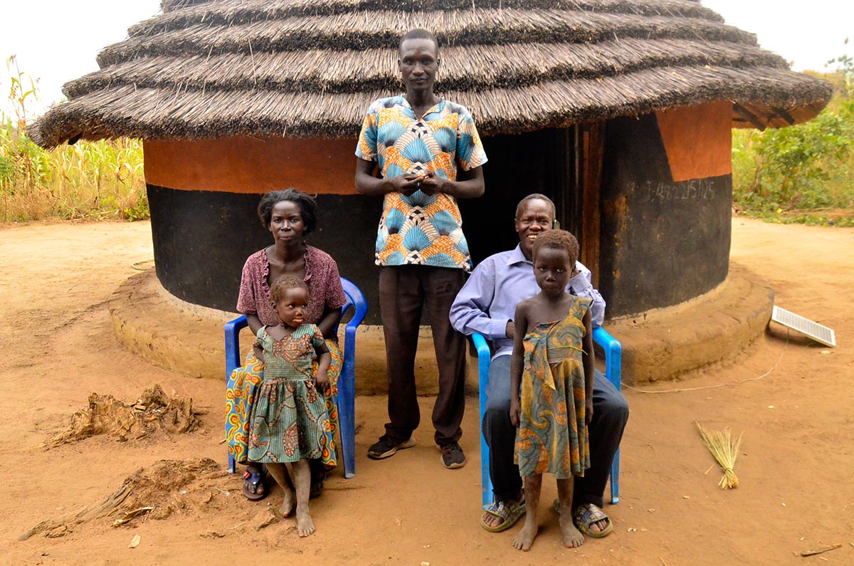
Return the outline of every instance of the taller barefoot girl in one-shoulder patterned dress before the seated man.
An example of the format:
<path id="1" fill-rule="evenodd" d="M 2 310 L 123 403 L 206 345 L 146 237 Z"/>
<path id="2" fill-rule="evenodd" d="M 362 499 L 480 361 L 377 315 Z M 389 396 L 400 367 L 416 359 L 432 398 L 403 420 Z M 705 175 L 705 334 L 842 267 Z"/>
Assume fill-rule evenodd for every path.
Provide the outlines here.
<path id="1" fill-rule="evenodd" d="M 511 358 L 510 419 L 518 427 L 515 460 L 524 478 L 527 516 L 513 546 L 527 551 L 537 534 L 543 473 L 558 481 L 564 546 L 584 537 L 572 523 L 573 475 L 590 467 L 587 425 L 593 417 L 593 333 L 589 298 L 566 292 L 578 242 L 564 230 L 539 236 L 533 249 L 541 291 L 518 304 Z M 520 399 L 521 392 L 521 399 Z"/>

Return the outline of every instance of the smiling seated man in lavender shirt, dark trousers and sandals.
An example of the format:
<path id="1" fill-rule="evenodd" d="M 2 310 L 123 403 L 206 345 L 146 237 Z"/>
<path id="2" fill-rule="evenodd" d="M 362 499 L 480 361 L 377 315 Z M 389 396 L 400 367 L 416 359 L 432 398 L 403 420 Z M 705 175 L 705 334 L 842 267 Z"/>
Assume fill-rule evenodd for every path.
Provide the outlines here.
<path id="1" fill-rule="evenodd" d="M 483 260 L 451 306 L 453 327 L 465 334 L 482 333 L 494 349 L 483 416 L 494 503 L 483 512 L 481 525 L 490 532 L 511 528 L 524 515 L 522 478 L 513 463 L 516 428 L 510 422 L 510 357 L 516 332 L 512 317 L 518 302 L 539 290 L 531 251 L 536 237 L 552 229 L 554 216 L 554 203 L 546 196 L 523 198 L 516 208 L 519 245 Z M 591 285 L 590 271 L 581 262 L 576 262 L 568 289 L 574 295 L 593 299 L 593 326 L 599 327 L 605 317 L 605 301 Z M 593 422 L 588 427 L 590 468 L 575 479 L 572 516 L 582 533 L 598 538 L 613 528 L 601 509 L 602 494 L 629 420 L 629 404 L 599 370 L 595 374 Z"/>

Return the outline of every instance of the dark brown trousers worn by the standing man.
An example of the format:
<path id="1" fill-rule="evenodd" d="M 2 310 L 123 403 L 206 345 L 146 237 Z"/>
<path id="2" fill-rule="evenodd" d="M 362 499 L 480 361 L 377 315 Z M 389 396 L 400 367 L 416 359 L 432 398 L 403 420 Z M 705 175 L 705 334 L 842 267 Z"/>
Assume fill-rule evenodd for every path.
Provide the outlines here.
<path id="1" fill-rule="evenodd" d="M 465 283 L 462 269 L 425 265 L 381 267 L 379 304 L 383 317 L 389 379 L 389 421 L 385 432 L 403 442 L 421 415 L 415 391 L 415 352 L 421 311 L 426 307 L 439 367 L 439 394 L 433 407 L 436 444 L 459 440 L 465 410 L 465 336 L 451 326 L 448 314 Z"/>

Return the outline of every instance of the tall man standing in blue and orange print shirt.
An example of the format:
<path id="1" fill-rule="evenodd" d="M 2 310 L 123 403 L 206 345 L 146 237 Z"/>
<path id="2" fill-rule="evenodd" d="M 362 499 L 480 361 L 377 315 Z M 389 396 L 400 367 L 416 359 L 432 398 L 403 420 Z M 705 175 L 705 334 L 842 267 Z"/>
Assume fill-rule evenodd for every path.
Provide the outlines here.
<path id="1" fill-rule="evenodd" d="M 381 459 L 415 445 L 418 327 L 426 306 L 439 367 L 433 408 L 445 468 L 461 468 L 459 427 L 465 410 L 465 336 L 448 320 L 471 269 L 458 198 L 483 195 L 487 161 L 471 114 L 433 92 L 439 44 L 423 29 L 401 38 L 397 67 L 406 94 L 371 104 L 356 148 L 356 188 L 384 195 L 377 231 L 379 303 L 389 379 L 389 421 L 368 449 Z M 378 166 L 379 177 L 374 176 Z"/>

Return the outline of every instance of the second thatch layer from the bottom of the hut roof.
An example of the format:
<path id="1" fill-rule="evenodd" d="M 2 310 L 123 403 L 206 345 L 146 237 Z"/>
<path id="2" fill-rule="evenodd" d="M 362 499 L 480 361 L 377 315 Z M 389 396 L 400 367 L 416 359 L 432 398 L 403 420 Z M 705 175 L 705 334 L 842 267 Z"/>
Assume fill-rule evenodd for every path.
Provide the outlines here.
<path id="1" fill-rule="evenodd" d="M 284 51 L 264 56 L 150 56 L 120 63 L 67 83 L 67 97 L 120 85 L 243 90 L 394 91 L 400 85 L 394 50 Z M 780 56 L 754 45 L 693 39 L 634 39 L 597 44 L 506 44 L 442 51 L 439 91 L 521 87 L 547 80 L 594 79 L 647 68 L 710 65 L 787 68 Z M 346 61 L 347 66 L 330 65 Z"/>

